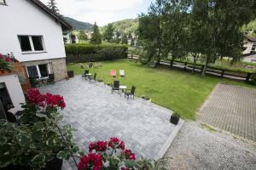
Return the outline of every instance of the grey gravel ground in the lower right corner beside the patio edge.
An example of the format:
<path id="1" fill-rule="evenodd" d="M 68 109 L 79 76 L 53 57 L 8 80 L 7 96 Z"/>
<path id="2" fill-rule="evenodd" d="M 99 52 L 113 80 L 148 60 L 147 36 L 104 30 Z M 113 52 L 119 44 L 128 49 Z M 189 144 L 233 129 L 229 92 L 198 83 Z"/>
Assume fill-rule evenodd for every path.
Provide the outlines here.
<path id="1" fill-rule="evenodd" d="M 256 169 L 256 144 L 185 122 L 165 157 L 167 169 Z"/>

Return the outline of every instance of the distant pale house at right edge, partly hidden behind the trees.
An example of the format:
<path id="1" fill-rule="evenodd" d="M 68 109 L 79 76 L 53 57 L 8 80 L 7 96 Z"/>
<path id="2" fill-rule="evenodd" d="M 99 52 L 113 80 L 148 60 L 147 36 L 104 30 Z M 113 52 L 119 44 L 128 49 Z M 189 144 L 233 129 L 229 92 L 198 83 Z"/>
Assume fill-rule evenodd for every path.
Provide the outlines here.
<path id="1" fill-rule="evenodd" d="M 243 48 L 242 54 L 244 55 L 256 53 L 256 37 L 244 36 Z"/>

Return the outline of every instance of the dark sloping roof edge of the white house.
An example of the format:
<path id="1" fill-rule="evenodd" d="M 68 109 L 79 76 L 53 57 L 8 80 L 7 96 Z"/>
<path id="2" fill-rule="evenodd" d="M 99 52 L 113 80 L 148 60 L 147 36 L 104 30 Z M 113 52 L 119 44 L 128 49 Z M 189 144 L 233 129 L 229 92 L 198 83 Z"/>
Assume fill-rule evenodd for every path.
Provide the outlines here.
<path id="1" fill-rule="evenodd" d="M 55 14 L 52 10 L 50 10 L 44 3 L 42 3 L 39 0 L 30 0 L 32 3 L 38 6 L 38 8 L 41 8 L 45 13 L 49 14 L 51 17 L 53 17 L 55 20 L 60 21 L 61 27 L 64 31 L 73 30 L 73 27 L 70 26 L 67 21 L 61 18 L 60 15 Z"/>

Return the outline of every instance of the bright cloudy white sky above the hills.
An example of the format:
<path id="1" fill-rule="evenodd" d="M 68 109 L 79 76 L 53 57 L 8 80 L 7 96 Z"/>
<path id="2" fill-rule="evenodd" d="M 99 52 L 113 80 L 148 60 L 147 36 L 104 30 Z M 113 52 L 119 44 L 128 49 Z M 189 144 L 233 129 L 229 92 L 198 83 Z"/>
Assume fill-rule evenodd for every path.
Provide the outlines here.
<path id="1" fill-rule="evenodd" d="M 47 4 L 49 0 L 41 0 Z M 105 26 L 117 20 L 137 18 L 153 0 L 56 0 L 60 13 L 75 20 Z"/>

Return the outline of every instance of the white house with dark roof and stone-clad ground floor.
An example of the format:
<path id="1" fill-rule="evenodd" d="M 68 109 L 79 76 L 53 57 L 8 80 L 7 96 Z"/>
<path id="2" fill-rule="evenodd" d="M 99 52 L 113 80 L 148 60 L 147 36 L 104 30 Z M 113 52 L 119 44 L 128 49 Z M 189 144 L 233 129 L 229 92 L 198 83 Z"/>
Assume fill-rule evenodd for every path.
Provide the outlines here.
<path id="1" fill-rule="evenodd" d="M 13 53 L 28 77 L 67 77 L 62 31 L 65 20 L 39 0 L 0 0 L 0 54 Z"/>

